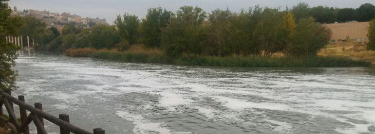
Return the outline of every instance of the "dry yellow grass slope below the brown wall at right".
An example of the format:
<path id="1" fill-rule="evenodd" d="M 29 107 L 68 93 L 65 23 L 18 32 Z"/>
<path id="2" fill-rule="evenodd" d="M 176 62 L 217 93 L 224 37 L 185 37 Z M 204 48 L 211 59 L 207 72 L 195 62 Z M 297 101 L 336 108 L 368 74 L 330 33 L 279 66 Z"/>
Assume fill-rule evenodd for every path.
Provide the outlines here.
<path id="1" fill-rule="evenodd" d="M 353 60 L 365 60 L 375 66 L 375 51 L 366 50 L 366 43 L 334 43 L 318 52 L 319 56 L 343 56 Z"/>

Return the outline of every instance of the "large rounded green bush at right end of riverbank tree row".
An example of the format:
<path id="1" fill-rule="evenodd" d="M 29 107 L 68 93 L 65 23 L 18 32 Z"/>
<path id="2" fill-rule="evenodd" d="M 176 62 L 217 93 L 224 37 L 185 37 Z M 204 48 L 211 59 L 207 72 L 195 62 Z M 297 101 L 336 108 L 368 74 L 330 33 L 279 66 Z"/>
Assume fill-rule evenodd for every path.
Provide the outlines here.
<path id="1" fill-rule="evenodd" d="M 328 44 L 330 35 L 314 18 L 300 19 L 285 52 L 292 56 L 314 56 Z"/>

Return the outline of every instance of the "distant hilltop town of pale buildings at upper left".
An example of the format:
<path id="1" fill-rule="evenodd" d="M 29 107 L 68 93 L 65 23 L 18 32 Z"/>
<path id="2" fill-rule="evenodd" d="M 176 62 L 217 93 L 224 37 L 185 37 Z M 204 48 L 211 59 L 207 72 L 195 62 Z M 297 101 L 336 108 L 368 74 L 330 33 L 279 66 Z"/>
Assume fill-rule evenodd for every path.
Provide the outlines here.
<path id="1" fill-rule="evenodd" d="M 56 27 L 59 31 L 67 24 L 75 24 L 83 28 L 90 28 L 96 24 L 108 25 L 105 18 L 90 18 L 80 17 L 78 15 L 71 15 L 70 13 L 51 13 L 49 11 L 38 11 L 32 9 L 17 10 L 17 7 L 13 7 L 12 15 L 18 15 L 20 17 L 32 16 L 43 20 L 47 26 Z"/>

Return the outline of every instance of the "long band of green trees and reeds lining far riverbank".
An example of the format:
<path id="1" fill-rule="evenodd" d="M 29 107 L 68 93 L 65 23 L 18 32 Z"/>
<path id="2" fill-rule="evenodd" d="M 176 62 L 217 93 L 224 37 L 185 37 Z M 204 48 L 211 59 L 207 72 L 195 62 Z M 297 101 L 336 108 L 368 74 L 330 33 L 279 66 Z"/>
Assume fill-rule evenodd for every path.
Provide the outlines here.
<path id="1" fill-rule="evenodd" d="M 367 7 L 375 6 L 364 4 L 357 12 Z M 60 33 L 54 27 L 43 29 L 45 25 L 38 19 L 24 17 L 29 23 L 20 33 L 35 36 L 38 45 L 34 47 L 38 50 L 123 62 L 237 67 L 370 66 L 368 59 L 318 54 L 332 34 L 320 22 L 331 21 L 324 21 L 313 11 L 331 13 L 331 9 L 310 8 L 307 3 L 285 10 L 255 6 L 238 13 L 228 9 L 206 13 L 192 6 L 172 12 L 157 7 L 150 8 L 142 20 L 125 14 L 117 16 L 114 25 L 85 29 L 68 24 Z M 36 26 L 41 29 L 33 29 Z M 374 48 L 373 37 L 375 34 L 369 34 L 368 50 Z"/>

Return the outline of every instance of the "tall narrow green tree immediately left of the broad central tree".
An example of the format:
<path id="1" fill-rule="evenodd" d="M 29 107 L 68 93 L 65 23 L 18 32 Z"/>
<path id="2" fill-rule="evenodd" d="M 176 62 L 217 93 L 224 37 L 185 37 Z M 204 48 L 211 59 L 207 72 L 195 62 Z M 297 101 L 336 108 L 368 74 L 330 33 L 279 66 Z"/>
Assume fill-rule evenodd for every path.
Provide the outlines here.
<path id="1" fill-rule="evenodd" d="M 163 10 L 161 7 L 150 8 L 139 28 L 140 42 L 149 48 L 159 48 L 162 29 L 168 25 L 171 17 L 171 11 Z"/>

